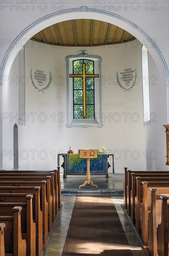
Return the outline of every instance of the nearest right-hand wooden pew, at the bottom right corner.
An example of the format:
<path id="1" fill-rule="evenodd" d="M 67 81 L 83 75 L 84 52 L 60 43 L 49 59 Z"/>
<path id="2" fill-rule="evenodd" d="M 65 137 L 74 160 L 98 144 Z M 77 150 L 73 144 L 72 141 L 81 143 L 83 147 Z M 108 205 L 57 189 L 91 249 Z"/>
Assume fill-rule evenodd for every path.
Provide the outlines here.
<path id="1" fill-rule="evenodd" d="M 169 197 L 161 195 L 162 212 L 161 223 L 157 227 L 157 250 L 158 256 L 169 255 Z"/>

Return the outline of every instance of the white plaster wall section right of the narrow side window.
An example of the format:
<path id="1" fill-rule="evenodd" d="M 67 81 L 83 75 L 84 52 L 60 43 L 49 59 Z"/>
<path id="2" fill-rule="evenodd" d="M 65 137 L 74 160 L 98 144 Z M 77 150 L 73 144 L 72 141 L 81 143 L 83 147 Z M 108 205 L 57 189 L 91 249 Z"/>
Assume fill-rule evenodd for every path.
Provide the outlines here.
<path id="1" fill-rule="evenodd" d="M 147 162 L 146 168 L 168 170 L 166 162 L 166 134 L 164 124 L 167 124 L 166 87 L 163 75 L 159 73 L 156 63 L 148 54 L 150 83 L 151 124 L 144 127 L 146 132 Z M 160 97 L 159 97 L 160 95 Z"/>

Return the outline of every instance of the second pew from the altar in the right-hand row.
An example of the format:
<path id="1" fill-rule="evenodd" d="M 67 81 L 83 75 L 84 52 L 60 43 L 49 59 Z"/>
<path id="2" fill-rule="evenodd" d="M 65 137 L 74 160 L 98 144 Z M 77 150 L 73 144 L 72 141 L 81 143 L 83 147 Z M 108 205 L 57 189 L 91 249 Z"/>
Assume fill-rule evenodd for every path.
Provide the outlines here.
<path id="1" fill-rule="evenodd" d="M 150 173 L 150 174 L 137 174 L 131 173 L 131 191 L 127 190 L 127 213 L 131 216 L 131 220 L 135 223 L 135 197 L 137 191 L 137 177 L 144 178 L 143 181 L 146 181 L 147 178 L 169 178 L 169 173 L 161 174 L 161 173 Z M 152 180 L 153 181 L 153 180 Z M 128 200 L 130 198 L 130 200 Z"/>

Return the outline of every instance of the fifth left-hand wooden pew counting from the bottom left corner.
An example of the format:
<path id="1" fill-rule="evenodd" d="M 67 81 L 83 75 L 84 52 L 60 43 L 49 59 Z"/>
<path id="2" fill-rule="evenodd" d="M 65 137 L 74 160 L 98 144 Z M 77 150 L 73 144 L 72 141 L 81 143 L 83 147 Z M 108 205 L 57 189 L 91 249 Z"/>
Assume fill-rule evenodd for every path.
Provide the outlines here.
<path id="1" fill-rule="evenodd" d="M 25 182 L 25 181 L 0 181 L 0 189 L 3 187 L 10 188 L 11 186 L 13 187 L 13 190 L 9 189 L 9 193 L 14 193 L 17 189 L 18 192 L 20 193 L 22 190 L 26 191 L 27 193 L 29 190 L 29 187 L 34 189 L 34 187 L 40 187 L 40 198 L 42 201 L 42 212 L 43 212 L 43 243 L 46 244 L 48 241 L 48 202 L 46 201 L 46 181 L 41 181 L 41 182 Z M 2 190 L 1 190 L 2 191 Z M 16 192 L 17 193 L 17 192 Z"/>

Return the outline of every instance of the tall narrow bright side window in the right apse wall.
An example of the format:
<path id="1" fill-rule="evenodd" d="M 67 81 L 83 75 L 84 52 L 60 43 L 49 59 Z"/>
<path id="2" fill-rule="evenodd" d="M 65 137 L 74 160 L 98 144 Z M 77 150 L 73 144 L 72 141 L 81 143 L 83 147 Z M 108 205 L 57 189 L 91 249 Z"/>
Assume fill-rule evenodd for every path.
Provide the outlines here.
<path id="1" fill-rule="evenodd" d="M 150 123 L 149 65 L 148 65 L 148 51 L 144 45 L 141 48 L 141 58 L 142 58 L 144 124 L 149 124 Z"/>

